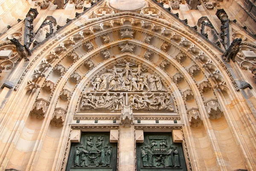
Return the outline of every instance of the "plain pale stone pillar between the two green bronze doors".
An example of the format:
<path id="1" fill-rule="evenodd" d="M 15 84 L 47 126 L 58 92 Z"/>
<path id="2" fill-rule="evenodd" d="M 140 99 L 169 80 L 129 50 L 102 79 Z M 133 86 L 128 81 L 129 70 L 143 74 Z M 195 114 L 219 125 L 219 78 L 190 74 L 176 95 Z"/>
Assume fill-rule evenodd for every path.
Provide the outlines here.
<path id="1" fill-rule="evenodd" d="M 119 171 L 135 171 L 134 126 L 121 127 L 119 139 Z"/>

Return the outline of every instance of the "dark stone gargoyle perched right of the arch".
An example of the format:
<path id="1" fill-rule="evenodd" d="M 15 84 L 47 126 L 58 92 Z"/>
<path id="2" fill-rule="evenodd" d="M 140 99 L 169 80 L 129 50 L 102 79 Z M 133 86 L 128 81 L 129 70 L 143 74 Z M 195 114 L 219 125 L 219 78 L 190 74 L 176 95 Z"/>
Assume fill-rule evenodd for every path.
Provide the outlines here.
<path id="1" fill-rule="evenodd" d="M 239 45 L 241 44 L 242 39 L 236 38 L 233 40 L 233 42 L 230 44 L 228 49 L 223 53 L 222 58 L 229 62 L 230 59 L 232 59 L 233 62 L 236 62 L 236 55 L 239 52 Z"/>

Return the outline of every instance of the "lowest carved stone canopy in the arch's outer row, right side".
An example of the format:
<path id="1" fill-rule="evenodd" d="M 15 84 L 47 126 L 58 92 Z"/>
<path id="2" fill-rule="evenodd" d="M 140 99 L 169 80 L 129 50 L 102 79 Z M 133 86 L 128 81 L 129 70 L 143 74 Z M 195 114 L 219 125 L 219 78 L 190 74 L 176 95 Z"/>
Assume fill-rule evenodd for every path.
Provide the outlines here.
<path id="1" fill-rule="evenodd" d="M 218 103 L 218 100 L 210 99 L 210 100 L 207 100 L 205 104 L 206 104 L 205 109 L 210 119 L 218 119 L 223 115 L 220 104 Z"/>

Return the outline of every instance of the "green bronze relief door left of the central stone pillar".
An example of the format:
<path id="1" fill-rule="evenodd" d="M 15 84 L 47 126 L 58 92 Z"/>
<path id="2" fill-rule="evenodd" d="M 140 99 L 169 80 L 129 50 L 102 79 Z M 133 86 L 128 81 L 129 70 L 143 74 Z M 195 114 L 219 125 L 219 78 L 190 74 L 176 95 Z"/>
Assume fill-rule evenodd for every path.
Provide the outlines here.
<path id="1" fill-rule="evenodd" d="M 116 171 L 117 144 L 110 133 L 83 132 L 80 143 L 72 143 L 66 171 Z"/>

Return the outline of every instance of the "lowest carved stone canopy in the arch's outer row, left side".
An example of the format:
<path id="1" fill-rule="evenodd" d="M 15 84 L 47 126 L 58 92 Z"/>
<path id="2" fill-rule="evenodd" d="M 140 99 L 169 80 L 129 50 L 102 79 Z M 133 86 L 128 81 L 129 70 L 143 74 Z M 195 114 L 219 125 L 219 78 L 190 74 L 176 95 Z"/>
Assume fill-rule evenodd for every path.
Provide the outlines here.
<path id="1" fill-rule="evenodd" d="M 45 117 L 45 113 L 48 109 L 49 102 L 44 99 L 36 99 L 35 104 L 32 107 L 30 115 L 35 115 L 37 118 Z"/>

